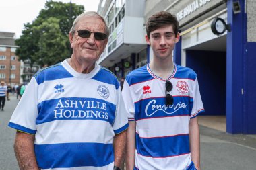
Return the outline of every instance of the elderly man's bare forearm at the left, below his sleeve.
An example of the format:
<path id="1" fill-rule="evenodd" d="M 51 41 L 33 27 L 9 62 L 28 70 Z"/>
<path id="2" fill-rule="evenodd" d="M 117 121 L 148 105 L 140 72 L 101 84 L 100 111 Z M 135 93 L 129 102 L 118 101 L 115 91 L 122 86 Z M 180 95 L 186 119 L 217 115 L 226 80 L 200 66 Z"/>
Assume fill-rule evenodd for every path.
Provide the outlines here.
<path id="1" fill-rule="evenodd" d="M 21 170 L 38 170 L 34 153 L 34 135 L 17 131 L 14 152 Z"/>

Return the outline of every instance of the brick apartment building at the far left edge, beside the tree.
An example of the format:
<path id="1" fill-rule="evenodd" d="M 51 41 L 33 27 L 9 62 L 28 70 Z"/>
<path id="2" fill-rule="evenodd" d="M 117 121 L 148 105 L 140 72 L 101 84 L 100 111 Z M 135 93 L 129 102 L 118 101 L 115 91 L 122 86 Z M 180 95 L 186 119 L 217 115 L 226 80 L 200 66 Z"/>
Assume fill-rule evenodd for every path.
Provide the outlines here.
<path id="1" fill-rule="evenodd" d="M 15 33 L 0 32 L 0 81 L 6 84 L 20 84 L 20 61 L 15 51 Z"/>

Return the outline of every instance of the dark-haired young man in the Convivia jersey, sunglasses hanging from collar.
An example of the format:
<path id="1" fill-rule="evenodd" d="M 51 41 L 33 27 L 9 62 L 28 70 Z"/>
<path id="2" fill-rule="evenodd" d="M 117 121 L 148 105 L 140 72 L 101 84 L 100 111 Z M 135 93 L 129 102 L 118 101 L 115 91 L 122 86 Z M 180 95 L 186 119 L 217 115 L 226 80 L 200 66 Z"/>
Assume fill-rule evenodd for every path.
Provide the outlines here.
<path id="1" fill-rule="evenodd" d="M 152 15 L 146 42 L 153 60 L 127 75 L 127 170 L 200 169 L 197 114 L 203 112 L 197 75 L 172 61 L 179 24 L 168 12 Z"/>

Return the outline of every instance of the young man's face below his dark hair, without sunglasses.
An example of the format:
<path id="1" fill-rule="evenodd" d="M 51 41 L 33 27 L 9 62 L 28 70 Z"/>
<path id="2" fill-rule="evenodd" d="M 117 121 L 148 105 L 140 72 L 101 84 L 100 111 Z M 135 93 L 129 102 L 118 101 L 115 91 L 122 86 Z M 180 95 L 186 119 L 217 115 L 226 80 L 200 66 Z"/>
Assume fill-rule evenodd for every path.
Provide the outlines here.
<path id="1" fill-rule="evenodd" d="M 152 32 L 146 41 L 151 46 L 154 57 L 160 60 L 172 58 L 175 43 L 179 41 L 179 33 L 175 36 L 172 25 L 163 26 Z"/>

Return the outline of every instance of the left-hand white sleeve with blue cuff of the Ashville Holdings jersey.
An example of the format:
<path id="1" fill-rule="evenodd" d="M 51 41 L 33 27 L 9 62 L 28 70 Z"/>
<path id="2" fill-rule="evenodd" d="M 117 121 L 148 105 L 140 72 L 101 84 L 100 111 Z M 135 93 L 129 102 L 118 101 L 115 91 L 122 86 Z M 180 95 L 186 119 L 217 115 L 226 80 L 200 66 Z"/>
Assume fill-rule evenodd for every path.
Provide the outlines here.
<path id="1" fill-rule="evenodd" d="M 9 127 L 28 134 L 36 134 L 36 118 L 38 116 L 37 86 L 36 80 L 32 77 L 11 116 Z"/>

